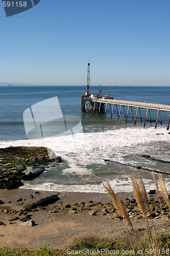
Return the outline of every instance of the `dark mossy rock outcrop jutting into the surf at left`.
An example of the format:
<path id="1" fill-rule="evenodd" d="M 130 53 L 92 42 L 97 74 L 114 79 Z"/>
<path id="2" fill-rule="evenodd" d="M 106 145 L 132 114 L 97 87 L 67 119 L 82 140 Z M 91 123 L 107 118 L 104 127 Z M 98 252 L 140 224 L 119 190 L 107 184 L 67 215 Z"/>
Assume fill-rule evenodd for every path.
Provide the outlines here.
<path id="1" fill-rule="evenodd" d="M 0 148 L 0 189 L 15 189 L 23 185 L 22 181 L 36 178 L 44 171 L 44 165 L 52 162 L 60 163 L 61 158 L 46 147 Z M 32 166 L 34 172 L 24 173 L 28 166 Z"/>

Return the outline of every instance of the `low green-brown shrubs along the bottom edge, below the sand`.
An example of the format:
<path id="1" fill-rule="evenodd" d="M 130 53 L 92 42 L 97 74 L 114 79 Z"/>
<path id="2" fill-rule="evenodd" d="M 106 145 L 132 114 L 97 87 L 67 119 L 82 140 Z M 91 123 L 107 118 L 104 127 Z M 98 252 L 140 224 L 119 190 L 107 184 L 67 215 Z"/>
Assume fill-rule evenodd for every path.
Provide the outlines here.
<path id="1" fill-rule="evenodd" d="M 167 234 L 168 243 L 170 242 L 170 236 Z M 155 238 L 153 236 L 154 241 Z M 156 232 L 156 239 L 159 246 L 159 255 L 162 255 L 164 250 L 167 250 L 167 240 L 165 232 Z M 65 247 L 65 249 L 53 249 L 42 247 L 39 249 L 30 249 L 30 248 L 17 248 L 11 249 L 8 247 L 0 248 L 0 256 L 66 256 L 66 255 L 85 255 L 83 250 L 88 250 L 89 255 L 101 255 L 101 249 L 105 249 L 105 252 L 102 255 L 144 255 L 145 252 L 147 255 L 155 255 L 155 251 L 152 249 L 150 244 L 150 238 L 148 234 L 141 238 L 141 243 L 143 249 L 138 246 L 138 243 L 133 241 L 134 251 L 130 243 L 125 241 L 125 238 L 109 239 L 109 238 L 99 238 L 97 236 L 89 235 L 81 238 L 75 238 L 72 242 Z M 140 246 L 141 247 L 141 246 Z M 97 253 L 91 253 L 94 251 Z M 142 251 L 142 253 L 141 253 Z M 151 253 L 148 253 L 150 251 Z M 74 253 L 73 253 L 74 252 Z M 85 252 L 85 251 L 84 251 Z M 99 252 L 99 253 L 98 253 Z M 129 253 L 128 253 L 129 252 Z M 162 253 L 161 253 L 162 252 Z M 168 253 L 165 253 L 168 254 Z M 88 255 L 88 253 L 86 254 Z"/>

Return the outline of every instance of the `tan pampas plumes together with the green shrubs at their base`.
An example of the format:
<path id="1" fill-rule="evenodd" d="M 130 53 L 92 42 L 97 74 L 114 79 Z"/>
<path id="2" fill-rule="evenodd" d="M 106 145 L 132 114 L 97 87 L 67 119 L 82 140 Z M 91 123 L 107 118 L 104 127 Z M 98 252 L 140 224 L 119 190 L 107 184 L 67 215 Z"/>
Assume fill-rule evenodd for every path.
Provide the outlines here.
<path id="1" fill-rule="evenodd" d="M 135 249 L 138 248 L 139 250 L 141 250 L 143 252 L 143 255 L 148 254 L 148 251 L 145 250 L 146 245 L 148 246 L 148 248 L 150 248 L 152 250 L 153 255 L 160 254 L 160 249 L 162 249 L 162 248 L 166 248 L 169 250 L 169 242 L 170 242 L 169 234 L 167 234 L 167 232 L 166 232 L 166 226 L 165 226 L 165 220 L 164 220 L 164 216 L 163 216 L 163 208 L 162 208 L 162 201 L 161 201 L 161 197 L 160 197 L 159 187 L 161 190 L 161 194 L 164 198 L 164 201 L 167 204 L 168 208 L 170 209 L 169 196 L 167 194 L 167 189 L 164 184 L 162 175 L 161 174 L 158 175 L 159 187 L 158 187 L 158 183 L 157 183 L 154 173 L 153 173 L 153 178 L 155 181 L 155 186 L 156 186 L 156 190 L 157 190 L 158 197 L 159 197 L 159 203 L 160 203 L 160 208 L 161 208 L 161 212 L 162 212 L 162 220 L 163 220 L 163 224 L 164 224 L 164 232 L 156 232 L 156 230 L 155 230 L 151 204 L 150 204 L 150 201 L 148 198 L 147 191 L 145 190 L 145 186 L 144 186 L 144 183 L 141 178 L 139 170 L 138 170 L 138 181 L 137 181 L 137 179 L 131 177 L 135 200 L 138 204 L 140 211 L 142 212 L 142 217 L 145 220 L 145 224 L 146 224 L 146 230 L 148 231 L 147 236 L 143 240 L 138 237 L 137 232 L 135 231 L 135 229 L 132 225 L 132 222 L 128 216 L 128 213 L 127 213 L 126 208 L 124 207 L 122 201 L 120 201 L 120 199 L 114 194 L 114 191 L 108 182 L 106 184 L 104 184 L 104 187 L 106 188 L 106 190 L 113 202 L 114 207 L 116 208 L 116 210 L 119 212 L 119 215 L 122 216 L 122 218 L 124 220 L 126 230 L 128 233 L 128 237 L 131 242 L 131 246 L 132 246 L 133 250 L 135 251 Z M 148 217 L 152 221 L 152 226 L 149 225 Z M 134 237 L 136 239 L 135 244 L 132 241 L 132 235 L 130 234 L 130 231 L 133 231 Z"/>

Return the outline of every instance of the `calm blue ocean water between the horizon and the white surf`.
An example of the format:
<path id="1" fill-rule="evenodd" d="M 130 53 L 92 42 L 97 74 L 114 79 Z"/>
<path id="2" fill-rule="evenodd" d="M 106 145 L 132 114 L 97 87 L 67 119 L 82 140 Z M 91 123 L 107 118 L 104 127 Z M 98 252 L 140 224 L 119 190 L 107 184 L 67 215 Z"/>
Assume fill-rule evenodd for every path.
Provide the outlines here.
<path id="1" fill-rule="evenodd" d="M 84 86 L 84 92 L 85 92 Z M 98 92 L 99 87 L 90 87 L 91 92 Z M 0 140 L 18 140 L 27 139 L 23 125 L 23 112 L 31 105 L 57 96 L 60 102 L 63 115 L 76 115 L 88 131 L 93 126 L 107 127 L 115 123 L 122 125 L 124 114 L 120 116 L 120 122 L 117 121 L 114 111 L 113 119 L 110 120 L 110 110 L 107 109 L 106 118 L 101 115 L 85 115 L 81 111 L 82 86 L 30 86 L 30 87 L 0 87 Z M 108 87 L 102 88 L 102 95 L 109 94 Z M 110 95 L 114 99 L 132 100 L 141 102 L 152 102 L 161 104 L 170 104 L 170 87 L 112 87 Z M 142 110 L 141 110 L 142 111 Z M 135 115 L 135 113 L 133 113 Z M 151 111 L 153 121 L 157 113 Z M 142 117 L 145 117 L 145 110 L 142 111 Z M 164 125 L 167 125 L 168 113 L 161 113 Z M 105 121 L 104 121 L 105 120 Z M 148 119 L 147 119 L 148 120 Z M 129 112 L 128 123 L 131 123 L 131 113 Z"/>

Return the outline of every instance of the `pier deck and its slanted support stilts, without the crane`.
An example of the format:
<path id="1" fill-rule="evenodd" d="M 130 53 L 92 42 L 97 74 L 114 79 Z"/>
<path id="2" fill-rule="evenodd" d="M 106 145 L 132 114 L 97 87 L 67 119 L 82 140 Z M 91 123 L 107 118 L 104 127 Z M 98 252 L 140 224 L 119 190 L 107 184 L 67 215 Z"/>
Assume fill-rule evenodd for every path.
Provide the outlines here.
<path id="1" fill-rule="evenodd" d="M 89 103 L 87 103 L 88 101 L 89 101 Z M 146 115 L 145 115 L 145 120 L 144 120 L 144 125 L 143 126 L 145 126 L 145 122 L 147 120 L 148 113 L 149 113 L 150 123 L 151 123 L 150 110 L 156 110 L 156 111 L 158 111 L 158 113 L 157 113 L 157 119 L 156 119 L 155 128 L 157 127 L 158 117 L 160 118 L 160 124 L 162 125 L 160 112 L 161 111 L 169 111 L 169 120 L 168 120 L 168 125 L 167 125 L 167 130 L 169 130 L 170 105 L 156 104 L 156 103 L 147 103 L 147 102 L 138 102 L 138 101 L 107 99 L 107 98 L 92 98 L 92 99 L 90 99 L 90 97 L 89 98 L 82 97 L 82 111 L 86 112 L 87 114 L 89 112 L 91 112 L 91 111 L 93 111 L 93 114 L 94 114 L 95 111 L 97 110 L 98 111 L 98 115 L 100 114 L 100 112 L 102 112 L 106 116 L 106 110 L 107 110 L 107 106 L 108 105 L 110 106 L 111 118 L 113 116 L 114 106 L 116 107 L 117 118 L 118 119 L 120 117 L 120 111 L 121 111 L 121 109 L 123 107 L 123 109 L 124 109 L 124 116 L 125 116 L 126 122 L 127 122 L 127 119 L 128 119 L 129 109 L 131 108 L 132 119 L 133 119 L 132 108 L 137 108 L 137 110 L 136 110 L 136 117 L 135 117 L 135 123 L 134 124 L 136 124 L 136 119 L 137 119 L 138 111 L 140 113 L 140 120 L 142 122 L 140 109 L 146 109 L 147 112 L 146 112 Z M 111 105 L 112 105 L 112 108 L 111 108 Z M 119 112 L 118 112 L 118 109 L 117 109 L 117 105 L 119 105 Z M 125 113 L 125 106 L 128 106 L 127 114 Z"/>

